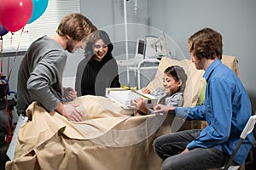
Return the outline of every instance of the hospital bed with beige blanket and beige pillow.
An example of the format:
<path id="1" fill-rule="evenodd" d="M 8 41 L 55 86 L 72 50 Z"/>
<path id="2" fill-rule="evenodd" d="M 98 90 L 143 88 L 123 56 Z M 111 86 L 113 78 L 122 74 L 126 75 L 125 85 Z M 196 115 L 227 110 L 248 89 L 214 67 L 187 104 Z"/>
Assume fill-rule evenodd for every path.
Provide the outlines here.
<path id="1" fill-rule="evenodd" d="M 240 77 L 236 57 L 223 62 Z M 205 80 L 190 59 L 162 57 L 148 88 L 162 86 L 167 66 L 181 65 L 188 75 L 184 106 L 196 105 Z M 85 112 L 84 122 L 69 122 L 34 102 L 26 110 L 30 122 L 20 128 L 14 160 L 6 169 L 150 170 L 160 169 L 161 160 L 152 143 L 160 135 L 182 129 L 201 128 L 204 122 L 189 122 L 172 115 L 131 116 L 108 98 L 82 96 L 73 101 Z"/>

